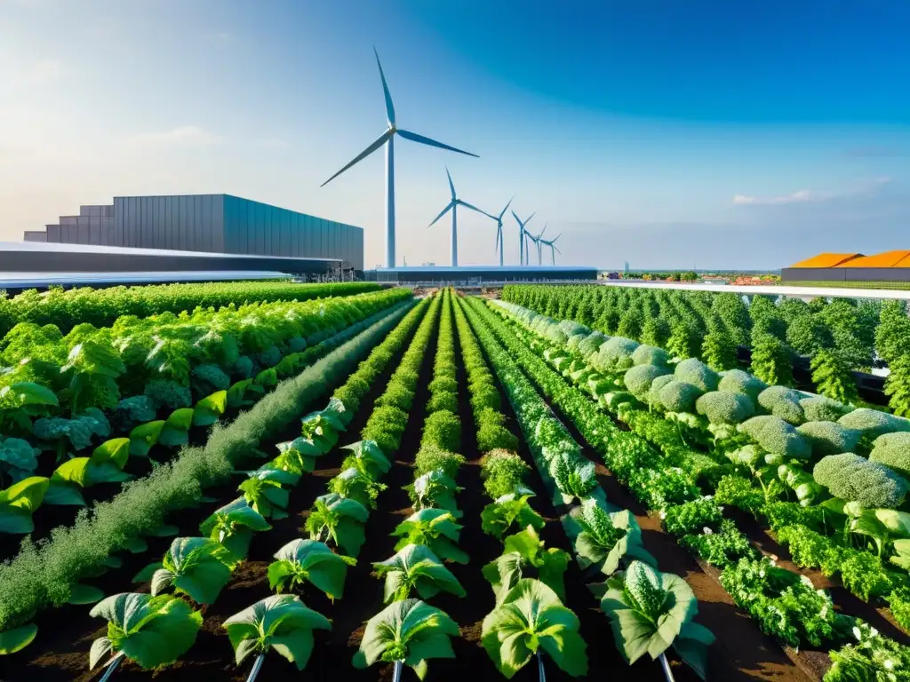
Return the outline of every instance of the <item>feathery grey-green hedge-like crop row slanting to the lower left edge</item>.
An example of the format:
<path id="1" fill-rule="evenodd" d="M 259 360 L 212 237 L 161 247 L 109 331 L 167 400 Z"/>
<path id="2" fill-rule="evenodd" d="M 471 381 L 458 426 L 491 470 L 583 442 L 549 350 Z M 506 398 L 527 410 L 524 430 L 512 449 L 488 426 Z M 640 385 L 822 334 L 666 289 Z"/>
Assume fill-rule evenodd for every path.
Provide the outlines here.
<path id="1" fill-rule="evenodd" d="M 24 544 L 15 559 L 0 565 L 3 648 L 15 648 L 10 642 L 16 638 L 30 641 L 35 627 L 27 622 L 39 609 L 65 604 L 73 597 L 77 581 L 97 575 L 132 540 L 159 533 L 168 514 L 197 506 L 202 490 L 229 480 L 256 456 L 260 442 L 327 396 L 406 312 L 407 307 L 399 308 L 298 376 L 281 382 L 231 424 L 215 426 L 205 446 L 184 447 L 149 476 L 127 484 L 110 502 L 80 514 L 73 527 L 57 529 L 38 547 Z"/>

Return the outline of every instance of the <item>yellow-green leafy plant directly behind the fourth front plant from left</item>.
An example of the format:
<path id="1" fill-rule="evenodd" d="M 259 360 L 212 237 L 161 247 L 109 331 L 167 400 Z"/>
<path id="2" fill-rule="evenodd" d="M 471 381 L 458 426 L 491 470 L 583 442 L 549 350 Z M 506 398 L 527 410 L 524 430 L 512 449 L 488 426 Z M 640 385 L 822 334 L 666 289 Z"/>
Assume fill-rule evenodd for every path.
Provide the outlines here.
<path id="1" fill-rule="evenodd" d="M 483 577 L 493 587 L 498 604 L 521 578 L 535 577 L 529 575 L 533 573 L 560 598 L 564 598 L 562 576 L 568 566 L 568 553 L 559 547 L 544 548 L 537 531 L 529 526 L 520 533 L 506 537 L 502 555 L 483 567 Z"/>

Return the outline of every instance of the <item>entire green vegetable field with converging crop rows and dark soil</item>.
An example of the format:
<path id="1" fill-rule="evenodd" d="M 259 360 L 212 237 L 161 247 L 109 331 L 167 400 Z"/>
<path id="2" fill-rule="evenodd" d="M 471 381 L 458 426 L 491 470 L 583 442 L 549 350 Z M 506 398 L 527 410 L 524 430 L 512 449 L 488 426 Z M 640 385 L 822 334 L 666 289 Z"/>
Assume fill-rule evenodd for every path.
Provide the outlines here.
<path id="1" fill-rule="evenodd" d="M 910 680 L 903 307 L 179 287 L 0 306 L 0 680 Z"/>

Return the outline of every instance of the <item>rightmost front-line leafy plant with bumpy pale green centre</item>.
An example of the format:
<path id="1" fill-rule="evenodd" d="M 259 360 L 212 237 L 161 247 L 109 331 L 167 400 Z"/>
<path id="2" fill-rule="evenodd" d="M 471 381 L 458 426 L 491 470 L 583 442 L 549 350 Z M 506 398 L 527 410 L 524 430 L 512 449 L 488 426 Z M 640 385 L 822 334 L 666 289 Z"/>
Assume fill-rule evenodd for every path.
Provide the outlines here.
<path id="1" fill-rule="evenodd" d="M 693 622 L 698 604 L 692 587 L 681 577 L 633 561 L 607 580 L 601 608 L 610 618 L 616 646 L 630 665 L 645 654 L 657 659 L 672 646 L 704 678 L 714 636 Z"/>

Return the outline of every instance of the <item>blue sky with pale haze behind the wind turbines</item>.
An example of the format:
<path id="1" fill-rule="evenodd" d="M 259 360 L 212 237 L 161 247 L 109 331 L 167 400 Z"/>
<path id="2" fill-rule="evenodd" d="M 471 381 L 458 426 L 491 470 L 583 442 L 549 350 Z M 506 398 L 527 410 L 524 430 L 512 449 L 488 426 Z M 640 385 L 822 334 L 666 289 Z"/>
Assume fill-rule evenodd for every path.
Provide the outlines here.
<path id="1" fill-rule="evenodd" d="M 459 194 L 562 233 L 561 261 L 780 267 L 908 248 L 910 5 L 641 0 L 0 0 L 0 238 L 111 196 L 227 192 L 447 263 Z M 460 261 L 495 226 L 460 216 Z M 506 257 L 518 258 L 506 226 Z"/>

